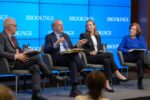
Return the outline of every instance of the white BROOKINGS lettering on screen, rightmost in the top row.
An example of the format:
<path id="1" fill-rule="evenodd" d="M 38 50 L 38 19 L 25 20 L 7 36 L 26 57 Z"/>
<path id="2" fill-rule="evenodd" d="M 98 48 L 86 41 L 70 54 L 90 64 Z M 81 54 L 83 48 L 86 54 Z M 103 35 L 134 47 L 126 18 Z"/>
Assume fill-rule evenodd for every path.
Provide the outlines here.
<path id="1" fill-rule="evenodd" d="M 129 22 L 128 17 L 107 17 L 107 22 Z"/>

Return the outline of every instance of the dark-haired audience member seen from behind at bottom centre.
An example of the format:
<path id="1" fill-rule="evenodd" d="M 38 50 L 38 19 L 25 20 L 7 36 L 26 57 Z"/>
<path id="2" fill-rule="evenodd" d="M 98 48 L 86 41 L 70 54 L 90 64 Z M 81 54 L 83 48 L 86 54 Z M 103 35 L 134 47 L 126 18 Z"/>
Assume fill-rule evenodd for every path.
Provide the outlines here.
<path id="1" fill-rule="evenodd" d="M 102 72 L 94 71 L 87 76 L 88 95 L 79 95 L 75 100 L 109 100 L 102 93 L 105 88 L 106 78 Z"/>

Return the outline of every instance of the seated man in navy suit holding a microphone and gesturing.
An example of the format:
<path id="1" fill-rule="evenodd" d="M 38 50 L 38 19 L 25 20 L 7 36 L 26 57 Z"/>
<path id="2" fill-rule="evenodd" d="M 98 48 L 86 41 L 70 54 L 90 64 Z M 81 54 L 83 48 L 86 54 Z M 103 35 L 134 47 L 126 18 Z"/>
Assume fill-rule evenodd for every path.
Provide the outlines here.
<path id="1" fill-rule="evenodd" d="M 48 34 L 45 38 L 45 53 L 52 55 L 54 65 L 68 66 L 71 71 L 72 90 L 71 97 L 75 97 L 81 92 L 77 89 L 78 72 L 86 77 L 86 73 L 82 70 L 85 65 L 81 61 L 78 53 L 60 54 L 60 51 L 72 49 L 73 45 L 69 36 L 63 33 L 63 23 L 61 20 L 56 20 L 52 23 L 53 32 Z M 79 41 L 77 46 L 84 41 Z"/>

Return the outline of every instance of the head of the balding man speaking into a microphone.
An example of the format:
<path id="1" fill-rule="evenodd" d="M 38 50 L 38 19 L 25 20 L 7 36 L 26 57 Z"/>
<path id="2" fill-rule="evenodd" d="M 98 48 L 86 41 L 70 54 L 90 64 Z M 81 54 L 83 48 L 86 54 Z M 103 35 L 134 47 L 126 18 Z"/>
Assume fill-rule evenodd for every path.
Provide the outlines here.
<path id="1" fill-rule="evenodd" d="M 52 29 L 56 33 L 62 33 L 62 31 L 64 30 L 62 21 L 61 20 L 55 20 L 52 23 Z"/>

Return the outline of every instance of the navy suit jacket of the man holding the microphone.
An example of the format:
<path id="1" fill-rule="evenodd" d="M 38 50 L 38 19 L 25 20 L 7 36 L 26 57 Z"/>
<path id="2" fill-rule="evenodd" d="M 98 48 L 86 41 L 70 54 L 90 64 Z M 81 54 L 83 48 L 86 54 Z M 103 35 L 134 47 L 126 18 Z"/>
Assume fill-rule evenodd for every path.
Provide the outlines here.
<path id="1" fill-rule="evenodd" d="M 65 41 L 67 42 L 68 44 L 68 47 L 69 48 L 73 48 L 73 45 L 72 45 L 72 42 L 69 38 L 69 36 L 65 33 L 62 33 L 63 37 L 65 38 Z M 56 55 L 59 54 L 60 52 L 60 46 L 54 48 L 54 43 L 57 41 L 57 37 L 55 35 L 54 32 L 48 34 L 46 37 L 45 37 L 45 48 L 44 48 L 44 52 L 45 53 L 49 53 L 52 55 L 52 57 L 55 57 Z"/>

